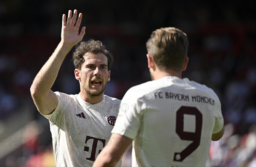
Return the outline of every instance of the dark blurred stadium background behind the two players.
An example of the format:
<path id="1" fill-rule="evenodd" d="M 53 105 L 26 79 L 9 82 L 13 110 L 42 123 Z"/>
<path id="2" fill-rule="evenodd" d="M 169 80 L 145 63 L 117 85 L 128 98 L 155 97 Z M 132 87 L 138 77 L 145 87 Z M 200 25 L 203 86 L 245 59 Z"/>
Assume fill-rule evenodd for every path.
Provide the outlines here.
<path id="1" fill-rule="evenodd" d="M 54 166 L 49 122 L 29 87 L 60 41 L 61 17 L 83 13 L 89 38 L 101 40 L 115 61 L 105 94 L 122 99 L 150 80 L 145 42 L 160 27 L 188 35 L 183 77 L 211 87 L 222 102 L 224 137 L 211 144 L 208 167 L 256 166 L 256 17 L 254 0 L 1 0 L 0 166 Z M 52 90 L 76 94 L 71 54 Z M 130 165 L 130 154 L 124 156 Z"/>

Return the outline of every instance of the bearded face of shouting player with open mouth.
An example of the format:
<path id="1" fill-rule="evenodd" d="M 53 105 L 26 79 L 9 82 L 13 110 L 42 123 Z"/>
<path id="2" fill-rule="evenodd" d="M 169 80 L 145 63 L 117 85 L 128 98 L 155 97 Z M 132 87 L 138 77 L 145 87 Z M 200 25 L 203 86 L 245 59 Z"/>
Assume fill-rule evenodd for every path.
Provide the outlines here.
<path id="1" fill-rule="evenodd" d="M 95 55 L 87 52 L 84 60 L 80 71 L 81 89 L 90 97 L 99 96 L 104 93 L 106 84 L 110 81 L 108 58 L 103 53 Z"/>

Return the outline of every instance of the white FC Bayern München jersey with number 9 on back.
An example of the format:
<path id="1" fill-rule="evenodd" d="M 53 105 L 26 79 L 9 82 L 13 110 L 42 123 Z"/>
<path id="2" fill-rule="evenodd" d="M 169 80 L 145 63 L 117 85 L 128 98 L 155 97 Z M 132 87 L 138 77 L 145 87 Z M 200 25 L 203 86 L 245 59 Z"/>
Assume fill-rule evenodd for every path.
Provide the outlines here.
<path id="1" fill-rule="evenodd" d="M 169 76 L 129 89 L 112 133 L 134 139 L 132 166 L 203 167 L 223 126 L 212 89 Z"/>

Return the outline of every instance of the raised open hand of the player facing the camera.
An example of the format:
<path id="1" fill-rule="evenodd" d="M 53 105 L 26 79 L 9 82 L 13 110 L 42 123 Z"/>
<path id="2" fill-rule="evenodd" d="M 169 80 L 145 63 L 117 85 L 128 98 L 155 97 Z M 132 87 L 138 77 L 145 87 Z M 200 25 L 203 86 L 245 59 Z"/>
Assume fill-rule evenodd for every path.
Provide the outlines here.
<path id="1" fill-rule="evenodd" d="M 79 27 L 82 20 L 82 14 L 80 13 L 77 17 L 77 10 L 74 10 L 74 14 L 72 17 L 72 11 L 68 11 L 67 23 L 66 23 L 66 15 L 62 15 L 62 29 L 61 29 L 61 43 L 68 45 L 70 47 L 75 46 L 79 43 L 85 34 L 85 27 L 81 29 L 79 34 Z"/>

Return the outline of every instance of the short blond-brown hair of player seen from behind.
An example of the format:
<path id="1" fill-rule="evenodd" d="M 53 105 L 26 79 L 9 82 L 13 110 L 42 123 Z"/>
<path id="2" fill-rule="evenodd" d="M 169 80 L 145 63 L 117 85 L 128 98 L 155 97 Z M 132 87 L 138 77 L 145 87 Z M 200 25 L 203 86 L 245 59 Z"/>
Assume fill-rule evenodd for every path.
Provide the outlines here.
<path id="1" fill-rule="evenodd" d="M 189 41 L 184 32 L 175 27 L 160 28 L 152 32 L 146 43 L 160 70 L 181 70 L 188 52 Z"/>

